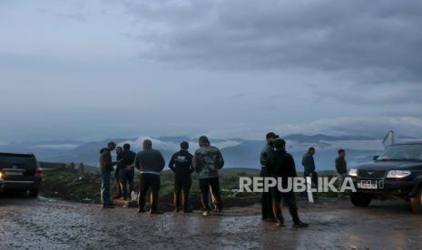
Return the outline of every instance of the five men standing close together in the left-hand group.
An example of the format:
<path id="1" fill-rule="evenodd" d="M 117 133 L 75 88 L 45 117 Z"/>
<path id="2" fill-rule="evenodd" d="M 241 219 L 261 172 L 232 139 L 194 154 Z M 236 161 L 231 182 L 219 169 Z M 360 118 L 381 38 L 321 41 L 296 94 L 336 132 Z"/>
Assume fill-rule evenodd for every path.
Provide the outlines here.
<path id="1" fill-rule="evenodd" d="M 184 213 L 191 212 L 189 208 L 189 191 L 191 189 L 191 174 L 198 174 L 201 189 L 201 206 L 203 216 L 208 216 L 212 209 L 221 213 L 221 194 L 219 170 L 224 166 L 224 159 L 216 147 L 211 146 L 210 140 L 201 136 L 200 148 L 194 155 L 189 152 L 189 143 L 183 141 L 181 149 L 172 155 L 169 168 L 174 171 L 174 210 Z M 117 158 L 113 162 L 111 152 L 116 149 Z M 160 214 L 158 210 L 158 195 L 160 191 L 160 172 L 165 166 L 162 153 L 152 149 L 152 140 L 142 142 L 142 151 L 135 154 L 129 144 L 124 144 L 123 149 L 116 148 L 115 142 L 109 142 L 107 148 L 100 151 L 100 172 L 102 176 L 101 198 L 103 208 L 113 208 L 110 198 L 110 179 L 113 166 L 116 166 L 115 178 L 118 179 L 118 196 L 128 199 L 133 190 L 134 168 L 140 170 L 140 188 L 138 195 L 138 212 L 144 213 L 145 200 L 150 193 L 150 213 Z M 129 186 L 129 188 L 127 187 Z M 210 193 L 212 203 L 210 203 Z M 181 201 L 182 200 L 182 201 Z"/>

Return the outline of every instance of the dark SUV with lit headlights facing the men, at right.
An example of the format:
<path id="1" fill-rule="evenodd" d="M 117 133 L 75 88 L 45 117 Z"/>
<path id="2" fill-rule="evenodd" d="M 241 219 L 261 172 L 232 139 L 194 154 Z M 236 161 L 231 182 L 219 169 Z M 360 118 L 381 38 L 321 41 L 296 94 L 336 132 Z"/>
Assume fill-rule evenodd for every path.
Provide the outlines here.
<path id="1" fill-rule="evenodd" d="M 350 195 L 353 205 L 368 207 L 372 198 L 398 198 L 422 214 L 422 141 L 391 145 L 374 162 L 351 168 L 348 176 L 357 189 Z"/>

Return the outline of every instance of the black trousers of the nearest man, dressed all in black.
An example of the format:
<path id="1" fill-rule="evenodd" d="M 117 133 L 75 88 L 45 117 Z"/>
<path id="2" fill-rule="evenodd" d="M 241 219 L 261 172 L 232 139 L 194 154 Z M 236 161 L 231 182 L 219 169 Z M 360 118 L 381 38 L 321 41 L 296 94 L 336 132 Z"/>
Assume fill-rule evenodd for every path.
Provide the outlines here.
<path id="1" fill-rule="evenodd" d="M 290 191 L 287 193 L 282 193 L 279 191 L 278 187 L 271 187 L 271 195 L 272 195 L 272 212 L 275 218 L 278 221 L 284 222 L 283 214 L 281 212 L 281 200 L 289 207 L 290 216 L 293 218 L 294 223 L 298 223 L 299 214 L 298 214 L 298 207 L 296 206 L 296 198 L 295 194 Z"/>

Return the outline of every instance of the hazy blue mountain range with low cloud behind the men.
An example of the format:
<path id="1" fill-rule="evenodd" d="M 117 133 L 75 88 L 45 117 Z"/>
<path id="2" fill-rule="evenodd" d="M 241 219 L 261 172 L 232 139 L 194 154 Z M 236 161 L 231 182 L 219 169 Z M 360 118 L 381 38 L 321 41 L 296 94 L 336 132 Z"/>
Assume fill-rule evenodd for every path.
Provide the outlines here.
<path id="1" fill-rule="evenodd" d="M 160 149 L 166 161 L 179 149 L 181 141 L 190 142 L 190 151 L 198 148 L 197 138 L 185 136 L 145 137 L 152 139 L 153 147 Z M 96 166 L 100 149 L 110 140 L 118 145 L 131 143 L 132 150 L 141 150 L 145 138 L 103 139 L 98 141 L 79 141 L 72 139 L 48 141 L 24 141 L 8 145 L 0 145 L 0 151 L 33 152 L 38 159 L 52 162 L 84 162 Z M 347 150 L 348 166 L 369 161 L 383 150 L 381 139 L 353 136 L 302 135 L 291 134 L 283 137 L 287 140 L 288 151 L 296 160 L 298 170 L 301 170 L 301 157 L 309 147 L 315 147 L 315 160 L 318 169 L 333 169 L 334 159 L 338 149 Z M 264 140 L 252 139 L 210 139 L 211 144 L 221 149 L 228 168 L 260 168 L 260 151 L 265 145 Z"/>

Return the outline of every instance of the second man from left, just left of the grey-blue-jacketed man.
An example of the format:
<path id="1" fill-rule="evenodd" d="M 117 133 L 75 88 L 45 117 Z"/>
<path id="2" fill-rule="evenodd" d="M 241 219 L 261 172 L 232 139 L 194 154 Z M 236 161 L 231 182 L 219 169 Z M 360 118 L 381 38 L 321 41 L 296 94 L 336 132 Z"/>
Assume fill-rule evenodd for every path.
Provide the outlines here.
<path id="1" fill-rule="evenodd" d="M 135 158 L 136 154 L 131 151 L 131 144 L 125 143 L 122 152 L 122 169 L 120 169 L 120 183 L 122 185 L 123 199 L 131 197 L 133 191 L 133 178 L 135 176 Z M 129 185 L 129 191 L 127 186 Z"/>

